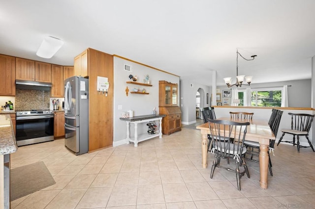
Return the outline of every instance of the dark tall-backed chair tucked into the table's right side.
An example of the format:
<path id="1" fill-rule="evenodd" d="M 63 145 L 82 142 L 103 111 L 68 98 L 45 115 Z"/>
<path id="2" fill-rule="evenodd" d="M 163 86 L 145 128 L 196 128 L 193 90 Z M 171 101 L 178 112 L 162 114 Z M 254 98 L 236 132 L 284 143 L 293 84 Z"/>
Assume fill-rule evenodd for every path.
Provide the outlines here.
<path id="1" fill-rule="evenodd" d="M 276 141 L 276 138 L 277 138 L 277 133 L 278 133 L 278 129 L 279 129 L 279 125 L 280 125 L 282 114 L 283 114 L 282 110 L 273 109 L 272 113 L 271 113 L 271 116 L 270 116 L 270 120 L 269 120 L 269 127 L 270 127 L 271 131 L 275 135 L 275 138 L 270 139 L 269 152 L 268 152 L 268 156 L 269 156 L 268 168 L 269 168 L 269 172 L 270 172 L 271 176 L 273 176 L 273 173 L 272 173 L 272 169 L 271 169 L 272 163 L 271 163 L 271 158 L 270 158 L 270 154 L 269 153 L 271 151 L 273 152 L 273 149 L 275 147 L 275 141 Z M 254 142 L 254 141 L 245 140 L 244 144 L 247 147 L 247 154 L 245 156 L 245 159 L 259 163 L 259 152 L 260 152 L 259 143 L 258 142 Z"/>

